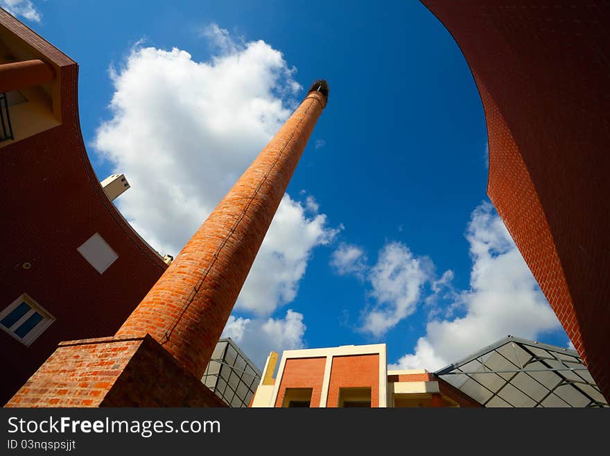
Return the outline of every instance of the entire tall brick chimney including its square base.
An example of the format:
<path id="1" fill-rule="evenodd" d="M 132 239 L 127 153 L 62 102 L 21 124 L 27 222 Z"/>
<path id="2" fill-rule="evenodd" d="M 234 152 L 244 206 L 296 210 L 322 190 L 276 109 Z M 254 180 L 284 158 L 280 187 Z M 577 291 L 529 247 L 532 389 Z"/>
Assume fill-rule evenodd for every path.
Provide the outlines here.
<path id="1" fill-rule="evenodd" d="M 327 99 L 316 81 L 114 337 L 60 343 L 6 406 L 221 405 L 200 378 Z"/>

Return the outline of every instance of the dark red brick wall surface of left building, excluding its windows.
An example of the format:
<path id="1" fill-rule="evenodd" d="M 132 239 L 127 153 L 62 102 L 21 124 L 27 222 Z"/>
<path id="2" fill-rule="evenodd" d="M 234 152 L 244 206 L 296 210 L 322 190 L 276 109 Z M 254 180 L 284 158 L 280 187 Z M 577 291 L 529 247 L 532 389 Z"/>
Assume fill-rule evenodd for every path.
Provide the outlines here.
<path id="1" fill-rule="evenodd" d="M 76 63 L 4 10 L 0 26 L 55 66 L 62 101 L 60 126 L 0 149 L 0 237 L 6 241 L 0 309 L 25 292 L 55 316 L 29 347 L 0 330 L 0 364 L 10 366 L 10 375 L 0 376 L 4 404 L 60 341 L 114 334 L 167 266 L 107 199 L 91 167 L 78 120 Z M 119 255 L 103 274 L 76 250 L 96 232 Z"/>

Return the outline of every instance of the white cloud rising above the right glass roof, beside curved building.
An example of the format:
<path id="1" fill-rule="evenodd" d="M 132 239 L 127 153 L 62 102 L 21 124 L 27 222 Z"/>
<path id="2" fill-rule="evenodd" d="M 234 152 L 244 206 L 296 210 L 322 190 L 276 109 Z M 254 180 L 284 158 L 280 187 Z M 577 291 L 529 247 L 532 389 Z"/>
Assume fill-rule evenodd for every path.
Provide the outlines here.
<path id="1" fill-rule="evenodd" d="M 464 315 L 429 321 L 415 353 L 401 357 L 392 369 L 433 371 L 506 335 L 536 339 L 560 328 L 491 204 L 482 203 L 473 211 L 467 239 L 473 259 L 470 289 L 453 303 Z"/>

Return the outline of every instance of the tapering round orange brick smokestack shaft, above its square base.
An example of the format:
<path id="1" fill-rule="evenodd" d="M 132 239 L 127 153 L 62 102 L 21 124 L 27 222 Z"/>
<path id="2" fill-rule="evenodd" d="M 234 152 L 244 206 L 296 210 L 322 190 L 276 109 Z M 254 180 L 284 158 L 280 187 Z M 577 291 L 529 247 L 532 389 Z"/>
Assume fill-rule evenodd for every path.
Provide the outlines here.
<path id="1" fill-rule="evenodd" d="M 115 337 L 148 333 L 201 377 L 328 94 L 313 83 Z"/>

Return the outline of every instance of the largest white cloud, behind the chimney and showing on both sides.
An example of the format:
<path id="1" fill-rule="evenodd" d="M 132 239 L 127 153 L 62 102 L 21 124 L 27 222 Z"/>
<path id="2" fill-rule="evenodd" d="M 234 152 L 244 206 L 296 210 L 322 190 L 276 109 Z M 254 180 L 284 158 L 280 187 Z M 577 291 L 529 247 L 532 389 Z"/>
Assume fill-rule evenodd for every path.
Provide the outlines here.
<path id="1" fill-rule="evenodd" d="M 94 141 L 132 186 L 116 200 L 121 212 L 174 256 L 279 130 L 301 89 L 269 44 L 236 42 L 215 25 L 204 35 L 218 49 L 207 62 L 176 48 L 134 47 L 111 70 L 112 119 Z M 308 216 L 284 196 L 238 307 L 270 314 L 293 300 L 313 248 L 336 233 L 307 206 Z"/>

